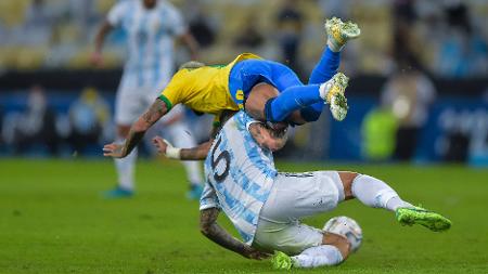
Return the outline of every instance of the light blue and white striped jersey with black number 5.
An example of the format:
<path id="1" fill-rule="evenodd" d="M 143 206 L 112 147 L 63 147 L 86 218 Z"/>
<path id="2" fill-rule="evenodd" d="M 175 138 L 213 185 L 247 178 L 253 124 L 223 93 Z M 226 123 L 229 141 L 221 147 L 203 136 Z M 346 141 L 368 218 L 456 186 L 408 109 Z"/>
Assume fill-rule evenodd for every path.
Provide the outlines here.
<path id="1" fill-rule="evenodd" d="M 217 135 L 205 160 L 207 182 L 200 200 L 200 210 L 223 210 L 247 244 L 278 173 L 271 151 L 261 148 L 247 130 L 252 122 L 241 110 Z"/>

